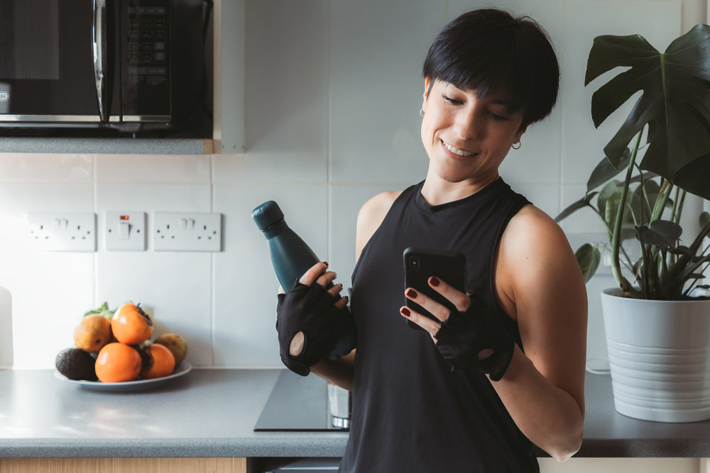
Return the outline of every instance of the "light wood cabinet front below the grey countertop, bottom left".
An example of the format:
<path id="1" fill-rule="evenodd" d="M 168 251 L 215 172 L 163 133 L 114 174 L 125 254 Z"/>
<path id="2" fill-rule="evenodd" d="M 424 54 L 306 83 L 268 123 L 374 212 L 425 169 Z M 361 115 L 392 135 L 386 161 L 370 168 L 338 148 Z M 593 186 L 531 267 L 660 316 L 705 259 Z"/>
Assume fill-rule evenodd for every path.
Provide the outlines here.
<path id="1" fill-rule="evenodd" d="M 246 473 L 246 458 L 0 458 L 3 473 Z"/>

